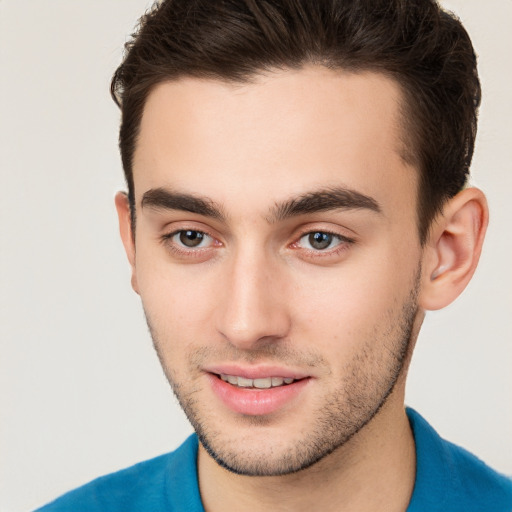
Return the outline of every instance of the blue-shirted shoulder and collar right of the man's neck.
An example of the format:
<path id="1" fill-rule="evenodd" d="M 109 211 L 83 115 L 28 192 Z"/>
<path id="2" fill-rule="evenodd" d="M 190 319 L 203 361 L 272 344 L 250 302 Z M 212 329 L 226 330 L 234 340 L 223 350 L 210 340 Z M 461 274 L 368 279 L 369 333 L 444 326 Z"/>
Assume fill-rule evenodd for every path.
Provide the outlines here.
<path id="1" fill-rule="evenodd" d="M 512 479 L 442 439 L 415 411 L 407 414 L 416 442 L 416 484 L 409 512 L 510 512 Z"/>

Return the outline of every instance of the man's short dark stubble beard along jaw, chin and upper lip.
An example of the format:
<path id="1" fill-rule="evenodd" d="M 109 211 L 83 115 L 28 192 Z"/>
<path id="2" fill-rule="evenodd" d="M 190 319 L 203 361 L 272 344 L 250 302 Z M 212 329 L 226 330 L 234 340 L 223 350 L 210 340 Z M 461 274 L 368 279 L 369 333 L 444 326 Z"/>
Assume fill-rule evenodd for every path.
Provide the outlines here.
<path id="1" fill-rule="evenodd" d="M 237 450 L 236 442 L 223 441 L 222 426 L 210 425 L 208 414 L 202 411 L 201 404 L 196 398 L 198 389 L 186 389 L 187 386 L 173 377 L 146 314 L 153 344 L 167 380 L 208 454 L 232 473 L 247 476 L 281 476 L 311 467 L 356 436 L 379 413 L 400 376 L 407 369 L 417 335 L 414 326 L 418 312 L 419 275 L 420 270 L 398 318 L 396 313 L 390 312 L 388 329 L 380 333 L 380 337 L 367 340 L 358 354 L 347 363 L 342 384 L 324 400 L 322 406 L 317 408 L 313 427 L 285 453 L 277 457 L 272 457 L 272 454 L 265 452 L 264 449 L 258 453 L 245 453 Z M 385 349 L 376 350 L 375 347 L 379 344 L 383 344 Z M 269 352 L 283 354 L 279 348 L 271 347 L 262 355 L 268 356 Z M 208 353 L 209 350 L 205 349 L 202 355 L 207 357 Z M 292 351 L 276 360 L 290 360 L 290 354 L 292 360 L 297 361 Z M 258 355 L 253 353 L 250 358 L 258 360 Z M 190 359 L 191 364 L 197 366 L 201 355 L 192 355 Z M 311 364 L 313 359 L 314 356 L 309 359 L 303 358 L 303 363 Z M 316 362 L 325 361 L 317 356 Z M 368 371 L 368 368 L 371 368 L 371 371 Z M 251 427 L 264 427 L 269 420 L 265 417 L 245 416 L 243 423 Z"/>

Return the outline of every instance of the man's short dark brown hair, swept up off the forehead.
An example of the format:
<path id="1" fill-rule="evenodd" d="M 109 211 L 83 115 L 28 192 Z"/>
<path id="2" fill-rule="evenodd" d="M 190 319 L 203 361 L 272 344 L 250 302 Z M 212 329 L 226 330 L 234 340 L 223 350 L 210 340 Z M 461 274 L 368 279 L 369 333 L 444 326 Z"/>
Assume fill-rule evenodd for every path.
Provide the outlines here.
<path id="1" fill-rule="evenodd" d="M 418 168 L 422 243 L 465 185 L 480 104 L 467 32 L 434 0 L 164 0 L 140 20 L 111 83 L 135 222 L 133 155 L 155 85 L 183 76 L 246 82 L 307 63 L 382 72 L 401 86 L 404 159 Z M 406 135 L 405 135 L 406 134 Z"/>

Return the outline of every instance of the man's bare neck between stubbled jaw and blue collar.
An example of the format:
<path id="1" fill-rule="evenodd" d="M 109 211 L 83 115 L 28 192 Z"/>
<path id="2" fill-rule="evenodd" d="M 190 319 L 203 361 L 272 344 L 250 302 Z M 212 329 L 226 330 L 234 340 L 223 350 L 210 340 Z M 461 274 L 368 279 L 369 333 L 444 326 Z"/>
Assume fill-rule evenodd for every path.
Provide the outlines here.
<path id="1" fill-rule="evenodd" d="M 416 460 L 400 388 L 344 446 L 290 475 L 235 475 L 220 467 L 200 445 L 199 486 L 206 512 L 406 510 Z"/>

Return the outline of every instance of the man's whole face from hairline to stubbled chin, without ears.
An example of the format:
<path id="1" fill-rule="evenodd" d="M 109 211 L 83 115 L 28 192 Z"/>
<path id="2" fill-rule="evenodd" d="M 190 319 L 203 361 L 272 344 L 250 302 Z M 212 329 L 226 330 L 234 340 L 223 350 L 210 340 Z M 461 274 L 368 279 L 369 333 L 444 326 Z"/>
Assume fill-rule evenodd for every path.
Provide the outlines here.
<path id="1" fill-rule="evenodd" d="M 148 98 L 133 285 L 175 394 L 232 471 L 310 466 L 397 392 L 421 259 L 399 102 L 383 76 L 317 67 Z"/>

